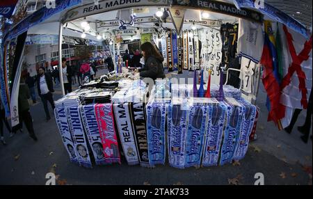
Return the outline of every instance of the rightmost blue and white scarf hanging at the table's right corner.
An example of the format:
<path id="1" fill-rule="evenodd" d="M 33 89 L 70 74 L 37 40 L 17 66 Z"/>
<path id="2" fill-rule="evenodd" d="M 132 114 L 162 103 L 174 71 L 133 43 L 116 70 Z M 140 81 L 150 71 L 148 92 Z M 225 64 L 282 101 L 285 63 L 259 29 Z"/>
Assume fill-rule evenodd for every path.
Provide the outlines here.
<path id="1" fill-rule="evenodd" d="M 239 100 L 243 106 L 245 106 L 245 113 L 242 117 L 241 132 L 239 142 L 234 153 L 234 160 L 240 160 L 245 157 L 249 145 L 249 136 L 252 132 L 252 128 L 257 115 L 257 107 L 246 102 L 246 100 Z"/>

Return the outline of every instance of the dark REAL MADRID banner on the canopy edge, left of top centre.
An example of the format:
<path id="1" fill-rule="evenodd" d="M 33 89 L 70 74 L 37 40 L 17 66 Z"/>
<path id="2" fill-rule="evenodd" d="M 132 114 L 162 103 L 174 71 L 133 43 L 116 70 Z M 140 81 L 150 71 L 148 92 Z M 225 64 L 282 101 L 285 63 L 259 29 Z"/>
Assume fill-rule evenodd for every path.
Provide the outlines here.
<path id="1" fill-rule="evenodd" d="M 131 8 L 138 6 L 168 6 L 167 0 L 117 0 L 117 1 L 100 1 L 97 5 L 90 3 L 88 5 L 74 8 L 66 13 L 63 22 L 72 21 L 81 17 L 104 13 L 111 10 L 118 10 L 122 8 Z"/>

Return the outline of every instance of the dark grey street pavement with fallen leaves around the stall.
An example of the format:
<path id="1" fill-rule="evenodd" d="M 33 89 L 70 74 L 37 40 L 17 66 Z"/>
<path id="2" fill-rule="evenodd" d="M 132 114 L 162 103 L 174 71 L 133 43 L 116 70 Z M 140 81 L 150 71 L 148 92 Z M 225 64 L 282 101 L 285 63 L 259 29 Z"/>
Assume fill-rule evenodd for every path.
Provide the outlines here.
<path id="1" fill-rule="evenodd" d="M 104 71 L 98 72 L 98 76 Z M 78 88 L 78 84 L 74 85 Z M 56 88 L 54 100 L 61 97 Z M 74 89 L 73 89 L 74 90 Z M 261 86 L 257 106 L 261 109 L 257 125 L 257 140 L 250 143 L 246 157 L 234 164 L 206 168 L 180 170 L 168 165 L 156 168 L 122 164 L 82 168 L 69 161 L 56 122 L 52 117 L 45 120 L 45 111 L 38 99 L 31 106 L 33 125 L 38 141 L 33 141 L 24 127 L 9 138 L 5 129 L 7 145 L 0 144 L 0 184 L 42 184 L 46 174 L 55 173 L 57 184 L 122 184 L 122 185 L 172 185 L 172 184 L 254 184 L 255 174 L 264 175 L 264 184 L 312 185 L 312 141 L 300 140 L 296 127 L 303 125 L 303 111 L 294 131 L 287 134 L 278 131 L 273 122 L 267 122 L 266 93 Z M 49 106 L 49 105 L 48 105 Z M 49 106 L 51 116 L 53 111 Z"/>

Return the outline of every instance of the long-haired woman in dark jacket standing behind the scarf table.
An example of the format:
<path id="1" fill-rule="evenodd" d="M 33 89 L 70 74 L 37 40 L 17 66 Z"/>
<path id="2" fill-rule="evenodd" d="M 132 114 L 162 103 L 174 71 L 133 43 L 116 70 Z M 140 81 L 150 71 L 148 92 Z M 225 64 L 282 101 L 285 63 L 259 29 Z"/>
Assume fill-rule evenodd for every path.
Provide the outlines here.
<path id="1" fill-rule="evenodd" d="M 164 58 L 156 47 L 150 42 L 145 42 L 141 45 L 141 51 L 143 51 L 143 58 L 145 58 L 145 66 L 143 67 L 143 70 L 140 70 L 140 76 L 150 77 L 153 80 L 165 78 L 162 64 Z"/>

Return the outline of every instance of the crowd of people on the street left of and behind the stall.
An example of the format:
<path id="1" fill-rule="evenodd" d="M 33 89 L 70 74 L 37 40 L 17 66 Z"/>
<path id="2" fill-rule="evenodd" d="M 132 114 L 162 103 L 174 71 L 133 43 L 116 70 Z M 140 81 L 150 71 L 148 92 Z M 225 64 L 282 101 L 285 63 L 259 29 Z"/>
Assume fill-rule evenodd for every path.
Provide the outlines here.
<path id="1" fill-rule="evenodd" d="M 96 77 L 98 70 L 104 69 L 104 63 L 106 61 L 67 61 L 66 58 L 62 58 L 62 75 L 63 84 L 65 88 L 65 95 L 72 92 L 72 85 L 79 83 L 79 86 L 84 82 L 93 80 Z M 112 63 L 110 63 L 113 65 Z M 108 64 L 109 65 L 109 64 Z M 113 67 L 114 69 L 114 67 Z M 37 86 L 37 93 L 42 102 L 45 110 L 46 121 L 51 120 L 48 102 L 51 105 L 51 109 L 54 110 L 54 86 L 59 87 L 61 85 L 60 72 L 58 67 L 55 66 L 52 70 L 47 67 L 39 67 L 37 75 L 31 77 L 29 72 L 22 72 L 19 83 L 19 96 L 18 96 L 18 113 L 19 113 L 19 125 L 10 127 L 8 119 L 5 116 L 5 110 L 2 102 L 0 103 L 0 141 L 3 145 L 6 145 L 6 141 L 3 136 L 3 124 L 6 126 L 10 137 L 14 136 L 17 131 L 22 132 L 23 123 L 26 126 L 29 136 L 34 141 L 38 141 L 35 136 L 35 130 L 33 129 L 33 118 L 31 117 L 29 99 L 33 104 L 37 103 L 37 97 L 35 92 L 35 86 Z"/>

